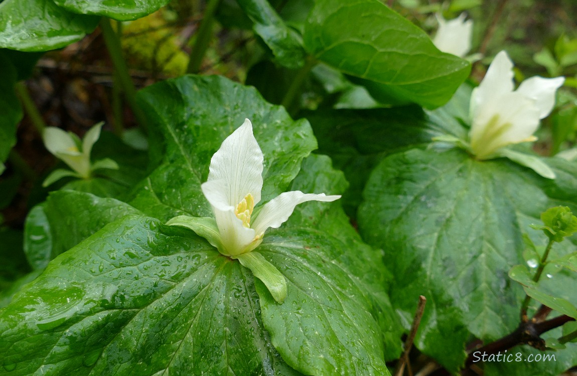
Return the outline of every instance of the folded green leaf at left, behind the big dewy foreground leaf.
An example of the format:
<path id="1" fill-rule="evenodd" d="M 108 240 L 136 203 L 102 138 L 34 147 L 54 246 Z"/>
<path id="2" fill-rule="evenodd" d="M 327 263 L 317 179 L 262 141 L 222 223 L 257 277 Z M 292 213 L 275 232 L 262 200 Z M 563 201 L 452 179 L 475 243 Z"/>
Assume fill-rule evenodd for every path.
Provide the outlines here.
<path id="1" fill-rule="evenodd" d="M 61 190 L 35 206 L 24 225 L 24 251 L 33 269 L 80 243 L 104 225 L 128 214 L 140 213 L 114 198 Z"/>

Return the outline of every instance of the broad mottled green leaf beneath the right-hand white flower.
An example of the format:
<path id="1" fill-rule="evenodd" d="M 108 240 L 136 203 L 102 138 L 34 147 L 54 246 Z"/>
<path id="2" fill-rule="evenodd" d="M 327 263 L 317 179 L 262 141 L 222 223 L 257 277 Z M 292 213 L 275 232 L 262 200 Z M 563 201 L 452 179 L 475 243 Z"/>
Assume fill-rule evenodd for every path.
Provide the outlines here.
<path id="1" fill-rule="evenodd" d="M 522 232 L 542 244 L 530 223 L 550 206 L 577 208 L 577 168 L 549 164 L 558 179 L 506 159 L 411 149 L 386 157 L 366 185 L 359 229 L 385 250 L 395 276 L 392 303 L 410 317 L 415 297 L 426 296 L 415 343 L 451 370 L 461 365 L 470 334 L 495 340 L 518 325 L 524 294 L 507 273 L 524 262 Z"/>

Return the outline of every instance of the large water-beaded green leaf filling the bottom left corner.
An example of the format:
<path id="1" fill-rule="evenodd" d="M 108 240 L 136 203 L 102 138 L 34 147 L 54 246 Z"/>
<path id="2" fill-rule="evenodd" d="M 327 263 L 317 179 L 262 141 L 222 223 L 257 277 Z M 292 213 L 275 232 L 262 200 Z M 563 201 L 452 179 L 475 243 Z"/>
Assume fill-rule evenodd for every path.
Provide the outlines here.
<path id="1" fill-rule="evenodd" d="M 141 216 L 59 255 L 0 311 L 0 339 L 9 375 L 298 375 L 269 345 L 248 270 Z"/>

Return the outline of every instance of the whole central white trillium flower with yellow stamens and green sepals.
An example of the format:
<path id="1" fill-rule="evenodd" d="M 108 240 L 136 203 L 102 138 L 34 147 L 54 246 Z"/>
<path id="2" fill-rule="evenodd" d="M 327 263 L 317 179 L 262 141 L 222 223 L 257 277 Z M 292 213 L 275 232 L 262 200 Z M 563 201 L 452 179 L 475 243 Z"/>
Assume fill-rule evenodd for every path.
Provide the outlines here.
<path id="1" fill-rule="evenodd" d="M 278 302 L 282 302 L 286 297 L 284 276 L 253 250 L 263 241 L 264 232 L 269 227 L 280 227 L 298 204 L 335 201 L 340 195 L 284 192 L 255 212 L 263 189 L 263 160 L 252 124 L 246 119 L 212 156 L 208 181 L 201 185 L 215 219 L 178 216 L 167 224 L 188 227 L 223 255 L 238 259 L 267 285 Z"/>

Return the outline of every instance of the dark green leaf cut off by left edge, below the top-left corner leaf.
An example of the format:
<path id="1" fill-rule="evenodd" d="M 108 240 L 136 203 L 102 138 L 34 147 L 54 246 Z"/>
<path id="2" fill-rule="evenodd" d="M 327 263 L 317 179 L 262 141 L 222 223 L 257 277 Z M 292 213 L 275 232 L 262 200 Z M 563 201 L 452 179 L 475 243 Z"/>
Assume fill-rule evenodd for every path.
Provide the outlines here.
<path id="1" fill-rule="evenodd" d="M 0 116 L 0 163 L 2 163 L 8 158 L 12 146 L 16 144 L 16 126 L 23 114 L 20 101 L 14 93 L 14 84 L 17 79 L 16 67 L 3 51 L 0 51 L 0 66 L 2 66 L 0 71 L 0 113 L 2 114 Z"/>

